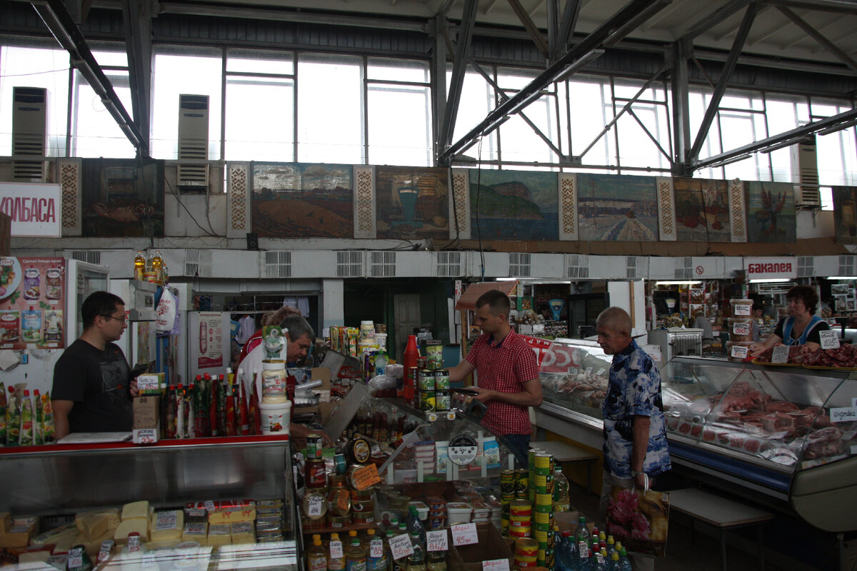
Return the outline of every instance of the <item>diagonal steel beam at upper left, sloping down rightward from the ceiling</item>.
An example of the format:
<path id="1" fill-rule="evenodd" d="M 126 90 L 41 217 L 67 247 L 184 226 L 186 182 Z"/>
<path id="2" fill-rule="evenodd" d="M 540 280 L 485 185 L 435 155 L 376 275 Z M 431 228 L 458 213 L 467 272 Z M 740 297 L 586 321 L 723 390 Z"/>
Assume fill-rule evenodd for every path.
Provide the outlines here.
<path id="1" fill-rule="evenodd" d="M 99 63 L 95 61 L 93 52 L 87 45 L 87 40 L 84 39 L 80 28 L 75 26 L 75 22 L 72 21 L 71 15 L 65 9 L 62 0 L 45 0 L 44 2 L 33 2 L 31 5 L 42 21 L 45 22 L 45 26 L 48 27 L 54 38 L 57 39 L 57 42 L 66 51 L 69 51 L 75 68 L 81 72 L 89 86 L 101 98 L 101 102 L 116 120 L 123 134 L 131 141 L 131 145 L 135 146 L 138 156 L 148 157 L 149 146 L 146 139 L 134 121 L 131 120 L 110 80 L 99 67 Z"/>

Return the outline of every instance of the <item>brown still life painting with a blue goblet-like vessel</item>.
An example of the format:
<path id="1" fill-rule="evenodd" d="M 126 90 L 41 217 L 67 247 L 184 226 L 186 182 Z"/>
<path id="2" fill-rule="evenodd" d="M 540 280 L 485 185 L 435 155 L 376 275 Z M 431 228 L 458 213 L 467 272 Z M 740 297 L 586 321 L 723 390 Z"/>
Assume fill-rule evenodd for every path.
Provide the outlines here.
<path id="1" fill-rule="evenodd" d="M 377 237 L 449 238 L 449 170 L 375 167 Z"/>

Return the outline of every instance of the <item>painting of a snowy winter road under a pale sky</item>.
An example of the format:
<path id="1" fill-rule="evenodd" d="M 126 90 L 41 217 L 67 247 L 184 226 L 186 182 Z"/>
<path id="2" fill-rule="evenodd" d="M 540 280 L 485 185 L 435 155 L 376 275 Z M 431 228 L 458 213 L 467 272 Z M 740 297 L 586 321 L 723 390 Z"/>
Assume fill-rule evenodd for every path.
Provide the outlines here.
<path id="1" fill-rule="evenodd" d="M 656 241 L 654 176 L 578 173 L 580 240 Z"/>

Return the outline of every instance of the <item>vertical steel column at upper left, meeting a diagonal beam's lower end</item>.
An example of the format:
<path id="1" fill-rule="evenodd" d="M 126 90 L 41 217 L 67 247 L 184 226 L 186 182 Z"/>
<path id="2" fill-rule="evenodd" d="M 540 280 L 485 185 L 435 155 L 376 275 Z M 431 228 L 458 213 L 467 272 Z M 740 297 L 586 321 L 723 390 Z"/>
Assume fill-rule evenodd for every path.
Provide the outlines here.
<path id="1" fill-rule="evenodd" d="M 123 0 L 125 51 L 128 53 L 128 78 L 131 87 L 131 112 L 134 122 L 149 140 L 149 113 L 152 109 L 152 6 L 148 2 Z"/>

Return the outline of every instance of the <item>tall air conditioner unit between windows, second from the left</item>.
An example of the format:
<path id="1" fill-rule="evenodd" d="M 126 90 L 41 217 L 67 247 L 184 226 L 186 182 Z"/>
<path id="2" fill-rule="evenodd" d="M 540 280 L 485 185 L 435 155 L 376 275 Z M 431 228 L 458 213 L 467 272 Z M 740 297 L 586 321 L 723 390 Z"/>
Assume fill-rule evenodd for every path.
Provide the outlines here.
<path id="1" fill-rule="evenodd" d="M 188 161 L 193 161 L 188 162 Z M 208 96 L 178 96 L 178 187 L 208 189 Z"/>

